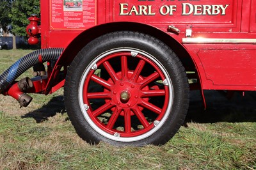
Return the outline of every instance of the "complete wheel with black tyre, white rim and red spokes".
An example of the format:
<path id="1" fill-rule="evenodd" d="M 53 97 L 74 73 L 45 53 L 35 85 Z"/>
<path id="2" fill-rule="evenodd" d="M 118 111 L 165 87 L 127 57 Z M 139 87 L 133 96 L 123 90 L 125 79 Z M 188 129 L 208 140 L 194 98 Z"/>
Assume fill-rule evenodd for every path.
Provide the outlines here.
<path id="1" fill-rule="evenodd" d="M 64 95 L 72 125 L 91 144 L 164 144 L 179 130 L 189 105 L 188 78 L 176 54 L 132 31 L 88 43 L 68 69 Z"/>

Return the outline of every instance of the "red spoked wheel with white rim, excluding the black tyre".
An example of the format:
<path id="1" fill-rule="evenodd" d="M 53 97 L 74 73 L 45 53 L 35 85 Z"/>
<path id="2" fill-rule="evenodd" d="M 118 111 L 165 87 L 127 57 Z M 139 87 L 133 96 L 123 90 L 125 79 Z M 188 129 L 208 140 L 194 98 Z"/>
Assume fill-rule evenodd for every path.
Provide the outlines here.
<path id="1" fill-rule="evenodd" d="M 116 141 L 138 141 L 154 133 L 173 98 L 172 82 L 159 66 L 148 54 L 136 50 L 111 50 L 99 56 L 81 80 L 79 98 L 83 98 L 86 120 L 97 132 Z M 99 77 L 102 71 L 108 75 Z M 102 88 L 90 91 L 92 86 Z M 104 100 L 101 104 L 100 99 Z"/>

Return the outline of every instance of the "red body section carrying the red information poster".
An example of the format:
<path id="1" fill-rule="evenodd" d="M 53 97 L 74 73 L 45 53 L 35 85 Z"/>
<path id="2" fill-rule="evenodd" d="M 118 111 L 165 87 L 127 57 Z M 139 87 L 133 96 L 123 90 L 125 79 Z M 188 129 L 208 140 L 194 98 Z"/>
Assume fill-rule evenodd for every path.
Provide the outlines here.
<path id="1" fill-rule="evenodd" d="M 82 31 L 105 22 L 104 1 L 83 0 L 81 7 L 67 6 L 63 1 L 41 0 L 42 48 L 67 47 Z M 100 19 L 99 19 L 100 17 Z"/>

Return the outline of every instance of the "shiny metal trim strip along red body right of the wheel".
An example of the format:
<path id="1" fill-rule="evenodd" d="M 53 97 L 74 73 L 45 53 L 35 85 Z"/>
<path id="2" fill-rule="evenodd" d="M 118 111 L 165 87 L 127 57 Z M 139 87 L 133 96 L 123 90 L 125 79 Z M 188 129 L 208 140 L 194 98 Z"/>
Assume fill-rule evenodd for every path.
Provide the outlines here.
<path id="1" fill-rule="evenodd" d="M 182 43 L 256 43 L 246 38 L 182 38 Z"/>

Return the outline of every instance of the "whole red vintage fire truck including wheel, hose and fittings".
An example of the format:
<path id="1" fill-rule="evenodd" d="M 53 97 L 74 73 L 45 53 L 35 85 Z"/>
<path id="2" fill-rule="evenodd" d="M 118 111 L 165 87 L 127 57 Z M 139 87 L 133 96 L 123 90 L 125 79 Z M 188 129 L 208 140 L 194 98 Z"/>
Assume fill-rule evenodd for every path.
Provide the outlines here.
<path id="1" fill-rule="evenodd" d="M 0 75 L 0 92 L 26 107 L 29 93 L 64 87 L 70 121 L 88 143 L 164 144 L 186 117 L 189 91 L 206 107 L 206 89 L 256 90 L 255 0 L 81 4 L 67 12 L 62 1 L 41 0 L 27 32 L 42 49 Z M 31 67 L 32 78 L 15 81 Z"/>

